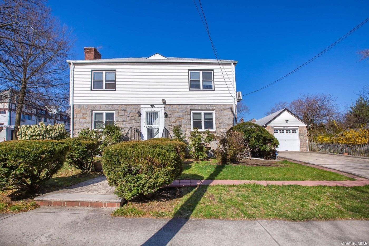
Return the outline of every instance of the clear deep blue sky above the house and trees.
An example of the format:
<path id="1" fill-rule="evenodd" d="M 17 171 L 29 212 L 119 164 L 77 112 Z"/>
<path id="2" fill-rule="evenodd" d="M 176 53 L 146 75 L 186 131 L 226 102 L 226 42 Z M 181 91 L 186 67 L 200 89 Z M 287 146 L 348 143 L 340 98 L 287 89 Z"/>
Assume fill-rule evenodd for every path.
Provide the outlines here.
<path id="1" fill-rule="evenodd" d="M 221 59 L 238 60 L 237 90 L 243 94 L 279 79 L 368 18 L 369 1 L 201 1 Z M 103 58 L 164 56 L 215 58 L 193 0 L 50 0 L 53 14 L 76 37 L 73 52 L 100 47 Z M 369 84 L 369 22 L 303 69 L 244 97 L 261 118 L 278 101 L 300 93 L 330 93 L 342 110 Z"/>

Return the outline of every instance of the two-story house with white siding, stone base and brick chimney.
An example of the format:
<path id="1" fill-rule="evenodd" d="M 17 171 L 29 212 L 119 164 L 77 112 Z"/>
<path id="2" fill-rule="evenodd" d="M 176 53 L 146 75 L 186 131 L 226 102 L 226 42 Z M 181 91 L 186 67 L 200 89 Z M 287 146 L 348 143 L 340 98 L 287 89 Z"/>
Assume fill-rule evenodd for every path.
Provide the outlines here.
<path id="1" fill-rule="evenodd" d="M 117 124 L 140 131 L 141 139 L 181 126 L 224 132 L 237 122 L 234 60 L 167 58 L 101 59 L 85 48 L 85 60 L 71 67 L 72 136 L 81 129 Z M 241 93 L 239 93 L 241 94 Z M 74 111 L 73 111 L 74 109 Z"/>

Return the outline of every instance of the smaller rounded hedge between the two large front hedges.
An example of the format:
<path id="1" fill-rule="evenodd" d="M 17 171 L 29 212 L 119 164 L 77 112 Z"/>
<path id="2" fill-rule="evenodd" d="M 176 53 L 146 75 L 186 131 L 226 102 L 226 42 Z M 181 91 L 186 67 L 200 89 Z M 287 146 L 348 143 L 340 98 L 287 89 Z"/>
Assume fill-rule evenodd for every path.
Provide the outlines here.
<path id="1" fill-rule="evenodd" d="M 91 171 L 93 157 L 99 148 L 99 141 L 93 138 L 77 137 L 63 140 L 69 145 L 66 163 L 82 171 Z"/>

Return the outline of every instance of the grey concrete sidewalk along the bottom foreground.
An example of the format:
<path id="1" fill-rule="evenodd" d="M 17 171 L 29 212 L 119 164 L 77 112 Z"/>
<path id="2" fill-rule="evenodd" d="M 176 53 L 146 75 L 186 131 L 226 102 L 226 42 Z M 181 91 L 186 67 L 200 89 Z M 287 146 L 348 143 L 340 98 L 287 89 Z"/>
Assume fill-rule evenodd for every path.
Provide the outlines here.
<path id="1" fill-rule="evenodd" d="M 149 239 L 150 245 L 341 245 L 369 241 L 369 221 L 113 218 L 111 211 L 41 207 L 1 215 L 0 244 L 142 245 Z M 166 230 L 161 229 L 164 225 Z M 176 230 L 180 225 L 182 228 Z"/>

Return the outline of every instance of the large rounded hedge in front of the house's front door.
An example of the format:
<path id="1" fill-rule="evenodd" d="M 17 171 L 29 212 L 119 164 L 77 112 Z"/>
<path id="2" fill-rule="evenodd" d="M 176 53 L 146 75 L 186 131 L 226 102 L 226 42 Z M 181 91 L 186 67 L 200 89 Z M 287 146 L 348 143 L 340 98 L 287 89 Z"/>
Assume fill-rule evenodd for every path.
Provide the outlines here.
<path id="1" fill-rule="evenodd" d="M 103 170 L 115 194 L 126 200 L 151 195 L 173 182 L 183 169 L 186 145 L 170 139 L 129 141 L 105 148 Z"/>

